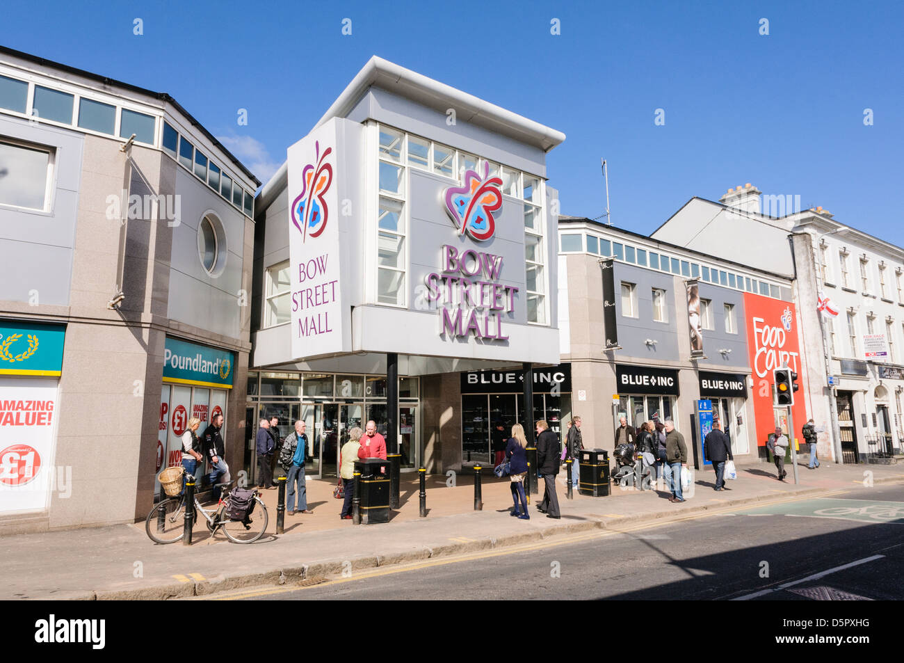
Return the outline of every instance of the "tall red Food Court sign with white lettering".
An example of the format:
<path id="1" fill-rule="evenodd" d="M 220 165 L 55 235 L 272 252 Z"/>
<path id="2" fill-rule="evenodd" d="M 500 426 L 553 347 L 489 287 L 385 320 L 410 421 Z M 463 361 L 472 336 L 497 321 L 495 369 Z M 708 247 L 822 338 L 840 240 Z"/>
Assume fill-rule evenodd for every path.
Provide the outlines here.
<path id="1" fill-rule="evenodd" d="M 800 340 L 796 324 L 794 304 L 744 293 L 744 312 L 747 316 L 748 352 L 753 374 L 753 412 L 755 440 L 758 446 L 766 444 L 775 431 L 776 419 L 773 406 L 773 370 L 787 365 L 798 374 L 801 385 L 794 404 L 794 421 L 808 419 L 806 413 L 804 357 L 800 352 Z M 803 423 L 799 423 L 802 426 Z"/>

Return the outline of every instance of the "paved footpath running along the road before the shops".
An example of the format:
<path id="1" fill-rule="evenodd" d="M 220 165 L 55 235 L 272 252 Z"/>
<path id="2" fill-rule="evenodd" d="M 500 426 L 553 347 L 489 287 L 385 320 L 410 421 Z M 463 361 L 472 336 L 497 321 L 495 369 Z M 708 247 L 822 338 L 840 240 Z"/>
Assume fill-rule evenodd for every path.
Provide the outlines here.
<path id="1" fill-rule="evenodd" d="M 865 474 L 866 473 L 866 474 Z M 442 475 L 428 477 L 428 517 L 419 517 L 418 478 L 403 474 L 400 510 L 391 522 L 354 526 L 341 520 L 334 484 L 308 481 L 313 515 L 286 516 L 286 531 L 276 535 L 277 490 L 263 491 L 268 507 L 267 534 L 251 545 L 231 544 L 195 526 L 193 545 L 155 545 L 144 522 L 0 539 L 0 599 L 169 599 L 212 594 L 237 587 L 301 582 L 353 569 L 400 564 L 503 545 L 539 541 L 556 535 L 617 528 L 641 520 L 686 515 L 705 509 L 768 503 L 804 495 L 829 494 L 864 485 L 904 481 L 904 465 L 799 466 L 800 484 L 785 483 L 765 463 L 739 466 L 730 490 L 712 490 L 711 469 L 697 473 L 692 495 L 672 504 L 664 490 L 615 487 L 608 497 L 565 498 L 560 475 L 562 517 L 531 520 L 508 515 L 512 506 L 508 478 L 483 478 L 482 511 L 474 510 L 473 478 L 457 476 L 447 486 Z M 866 482 L 864 484 L 864 481 Z"/>

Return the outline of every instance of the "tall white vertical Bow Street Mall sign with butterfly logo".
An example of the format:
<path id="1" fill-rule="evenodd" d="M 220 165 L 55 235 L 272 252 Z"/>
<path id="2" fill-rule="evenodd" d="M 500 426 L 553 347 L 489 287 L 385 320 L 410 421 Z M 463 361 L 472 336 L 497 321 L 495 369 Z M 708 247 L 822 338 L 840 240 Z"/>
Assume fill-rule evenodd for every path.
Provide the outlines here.
<path id="1" fill-rule="evenodd" d="M 296 358 L 352 349 L 340 243 L 344 226 L 353 222 L 352 202 L 361 185 L 354 175 L 357 166 L 346 158 L 357 154 L 358 134 L 349 124 L 332 118 L 287 150 L 290 328 Z"/>

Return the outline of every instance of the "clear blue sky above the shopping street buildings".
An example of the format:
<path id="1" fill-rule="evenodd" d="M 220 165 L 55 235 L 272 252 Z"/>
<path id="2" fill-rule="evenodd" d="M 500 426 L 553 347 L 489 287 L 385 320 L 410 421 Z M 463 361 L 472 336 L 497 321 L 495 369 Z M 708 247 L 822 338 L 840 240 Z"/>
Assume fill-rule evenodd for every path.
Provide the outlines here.
<path id="1" fill-rule="evenodd" d="M 751 182 L 904 245 L 904 4 L 50 0 L 4 12 L 0 43 L 169 92 L 261 179 L 377 54 L 564 132 L 548 157 L 562 213 L 605 211 L 606 157 L 613 223 L 635 232 Z"/>

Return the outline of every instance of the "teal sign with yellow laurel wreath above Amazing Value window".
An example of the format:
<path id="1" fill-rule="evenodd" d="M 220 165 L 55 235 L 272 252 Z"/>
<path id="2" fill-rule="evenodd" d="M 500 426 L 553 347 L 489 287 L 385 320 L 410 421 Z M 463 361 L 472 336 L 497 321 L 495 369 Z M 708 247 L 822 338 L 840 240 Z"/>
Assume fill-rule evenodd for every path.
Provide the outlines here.
<path id="1" fill-rule="evenodd" d="M 59 376 L 65 337 L 64 325 L 0 320 L 0 375 Z"/>

